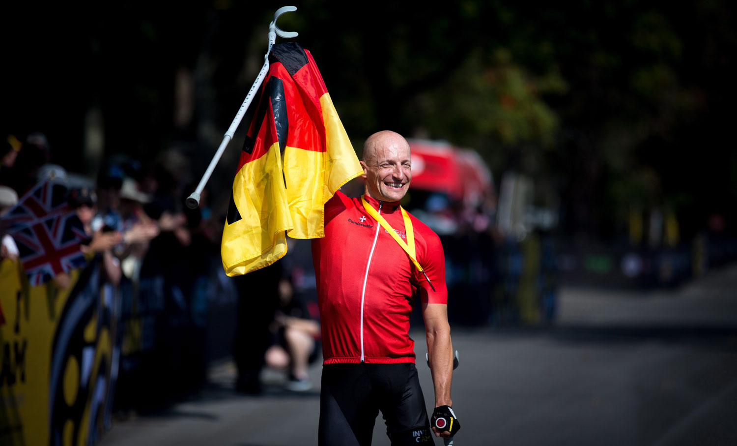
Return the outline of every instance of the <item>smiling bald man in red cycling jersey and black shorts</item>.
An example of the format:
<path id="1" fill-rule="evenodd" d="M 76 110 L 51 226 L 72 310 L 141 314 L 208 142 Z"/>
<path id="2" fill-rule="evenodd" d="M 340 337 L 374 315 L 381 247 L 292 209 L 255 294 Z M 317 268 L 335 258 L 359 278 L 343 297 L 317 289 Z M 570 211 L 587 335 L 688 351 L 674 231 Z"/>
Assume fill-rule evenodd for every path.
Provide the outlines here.
<path id="1" fill-rule="evenodd" d="M 392 445 L 433 444 L 433 433 L 448 438 L 459 427 L 450 419 L 453 346 L 443 248 L 437 234 L 399 206 L 412 180 L 407 141 L 391 131 L 374 133 L 360 162 L 364 195 L 337 192 L 325 205 L 325 237 L 312 240 L 324 345 L 319 443 L 371 445 L 381 411 Z M 433 421 L 447 414 L 432 431 L 409 337 L 418 294 Z"/>

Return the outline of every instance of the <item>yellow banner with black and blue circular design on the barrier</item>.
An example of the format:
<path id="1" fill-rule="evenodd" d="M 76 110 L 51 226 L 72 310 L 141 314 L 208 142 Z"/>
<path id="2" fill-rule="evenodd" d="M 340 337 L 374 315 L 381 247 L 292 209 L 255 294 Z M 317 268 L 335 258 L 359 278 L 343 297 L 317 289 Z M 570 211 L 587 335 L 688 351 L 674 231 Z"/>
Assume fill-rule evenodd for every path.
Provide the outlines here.
<path id="1" fill-rule="evenodd" d="M 0 445 L 87 445 L 109 427 L 118 290 L 94 259 L 70 279 L 30 287 L 0 262 Z"/>

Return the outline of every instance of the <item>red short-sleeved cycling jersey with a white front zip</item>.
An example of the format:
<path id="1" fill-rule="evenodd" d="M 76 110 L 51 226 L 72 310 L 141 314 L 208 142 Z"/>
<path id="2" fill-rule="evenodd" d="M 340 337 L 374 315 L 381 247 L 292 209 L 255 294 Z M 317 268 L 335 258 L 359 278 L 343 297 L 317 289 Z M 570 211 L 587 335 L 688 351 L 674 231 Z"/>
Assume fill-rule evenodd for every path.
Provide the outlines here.
<path id="1" fill-rule="evenodd" d="M 399 203 L 366 201 L 406 243 Z M 445 304 L 447 288 L 439 237 L 410 218 L 416 259 L 434 291 L 360 198 L 337 192 L 325 204 L 325 237 L 312 240 L 324 364 L 414 362 L 409 336 L 414 291 L 419 288 L 422 302 Z"/>

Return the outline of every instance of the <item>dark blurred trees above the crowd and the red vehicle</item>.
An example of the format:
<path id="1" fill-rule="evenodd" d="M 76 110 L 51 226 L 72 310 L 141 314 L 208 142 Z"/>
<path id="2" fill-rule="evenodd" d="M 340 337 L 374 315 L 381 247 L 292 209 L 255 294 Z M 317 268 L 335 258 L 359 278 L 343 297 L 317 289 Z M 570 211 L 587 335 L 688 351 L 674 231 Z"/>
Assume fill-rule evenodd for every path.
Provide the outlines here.
<path id="1" fill-rule="evenodd" d="M 554 189 L 570 237 L 624 237 L 632 206 L 674 212 L 682 240 L 713 215 L 734 230 L 731 2 L 294 4 L 279 26 L 314 55 L 357 150 L 384 128 L 471 147 L 497 187 L 515 170 Z M 19 139 L 46 133 L 52 162 L 88 175 L 116 153 L 146 163 L 174 147 L 196 181 L 280 6 L 4 6 L 1 125 Z M 90 129 L 102 130 L 102 153 L 85 149 Z M 236 156 L 212 190 L 228 190 Z"/>

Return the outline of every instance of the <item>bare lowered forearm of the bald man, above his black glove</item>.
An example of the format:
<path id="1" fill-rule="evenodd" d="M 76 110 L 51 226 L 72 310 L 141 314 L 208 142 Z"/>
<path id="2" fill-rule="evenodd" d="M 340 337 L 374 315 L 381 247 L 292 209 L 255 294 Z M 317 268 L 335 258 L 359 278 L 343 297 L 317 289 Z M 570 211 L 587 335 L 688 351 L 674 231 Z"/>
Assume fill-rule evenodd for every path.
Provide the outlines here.
<path id="1" fill-rule="evenodd" d="M 435 387 L 435 407 L 453 405 L 450 399 L 450 383 L 453 380 L 453 344 L 450 326 L 427 330 L 427 352 L 430 356 L 430 373 Z"/>

